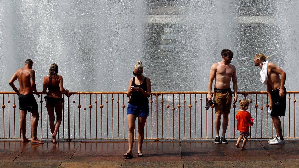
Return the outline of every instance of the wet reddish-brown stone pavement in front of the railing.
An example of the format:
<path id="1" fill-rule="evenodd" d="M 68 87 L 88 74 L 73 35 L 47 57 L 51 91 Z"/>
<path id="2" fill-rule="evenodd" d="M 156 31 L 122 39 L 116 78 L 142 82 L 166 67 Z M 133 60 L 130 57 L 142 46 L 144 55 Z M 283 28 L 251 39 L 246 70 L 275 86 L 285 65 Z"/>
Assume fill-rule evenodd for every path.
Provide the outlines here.
<path id="1" fill-rule="evenodd" d="M 143 157 L 125 158 L 127 141 L 0 141 L 0 167 L 299 167 L 299 140 L 270 145 L 249 140 L 247 150 L 214 141 L 145 141 Z"/>

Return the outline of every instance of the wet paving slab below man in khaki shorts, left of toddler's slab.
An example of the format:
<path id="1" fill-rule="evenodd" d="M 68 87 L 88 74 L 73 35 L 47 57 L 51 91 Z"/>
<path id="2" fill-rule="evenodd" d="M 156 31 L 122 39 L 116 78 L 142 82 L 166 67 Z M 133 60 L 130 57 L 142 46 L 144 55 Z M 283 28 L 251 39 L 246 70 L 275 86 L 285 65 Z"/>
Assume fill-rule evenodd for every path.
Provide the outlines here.
<path id="1" fill-rule="evenodd" d="M 225 161 L 221 144 L 214 141 L 181 141 L 182 161 Z"/>

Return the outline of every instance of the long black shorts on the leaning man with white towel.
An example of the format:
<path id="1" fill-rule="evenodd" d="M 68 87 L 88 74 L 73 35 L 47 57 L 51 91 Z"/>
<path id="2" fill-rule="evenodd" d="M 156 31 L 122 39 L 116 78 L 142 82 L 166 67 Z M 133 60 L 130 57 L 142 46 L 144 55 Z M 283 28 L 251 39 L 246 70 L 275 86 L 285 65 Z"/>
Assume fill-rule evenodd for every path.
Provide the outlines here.
<path id="1" fill-rule="evenodd" d="M 272 112 L 271 116 L 285 116 L 286 114 L 286 88 L 284 90 L 284 97 L 281 98 L 279 96 L 279 89 L 272 90 L 271 97 L 272 97 Z"/>

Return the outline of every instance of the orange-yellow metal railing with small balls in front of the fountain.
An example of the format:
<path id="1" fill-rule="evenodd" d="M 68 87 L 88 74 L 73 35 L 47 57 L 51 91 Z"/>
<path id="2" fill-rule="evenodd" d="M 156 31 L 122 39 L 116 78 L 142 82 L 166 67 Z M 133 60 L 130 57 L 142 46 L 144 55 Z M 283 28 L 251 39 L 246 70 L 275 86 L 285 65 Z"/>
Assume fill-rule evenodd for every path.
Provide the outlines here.
<path id="1" fill-rule="evenodd" d="M 64 95 L 62 123 L 58 139 L 127 139 L 126 92 L 70 92 Z M 213 93 L 214 94 L 214 93 Z M 281 118 L 285 138 L 299 137 L 299 114 L 296 114 L 296 95 L 288 91 L 286 116 Z M 37 136 L 51 139 L 49 119 L 44 95 L 37 98 L 40 120 Z M 212 139 L 215 137 L 214 108 L 206 110 L 207 92 L 152 92 L 149 97 L 149 117 L 145 126 L 145 139 Z M 20 139 L 18 97 L 14 92 L 0 92 L 0 139 Z M 238 92 L 238 99 L 248 99 L 248 112 L 255 118 L 250 127 L 250 138 L 275 136 L 271 117 L 267 114 L 269 100 L 265 91 Z M 237 138 L 235 115 L 239 103 L 232 105 L 227 138 Z M 31 133 L 31 117 L 27 114 L 26 134 Z M 137 119 L 138 121 L 138 119 Z M 222 121 L 221 121 L 222 122 Z M 136 122 L 138 125 L 138 122 Z M 137 127 L 136 127 L 137 128 Z M 222 129 L 220 129 L 222 130 Z M 297 132 L 296 132 L 297 130 Z M 220 131 L 221 132 L 221 131 Z M 137 132 L 138 133 L 138 132 Z M 135 137 L 137 137 L 135 132 Z"/>

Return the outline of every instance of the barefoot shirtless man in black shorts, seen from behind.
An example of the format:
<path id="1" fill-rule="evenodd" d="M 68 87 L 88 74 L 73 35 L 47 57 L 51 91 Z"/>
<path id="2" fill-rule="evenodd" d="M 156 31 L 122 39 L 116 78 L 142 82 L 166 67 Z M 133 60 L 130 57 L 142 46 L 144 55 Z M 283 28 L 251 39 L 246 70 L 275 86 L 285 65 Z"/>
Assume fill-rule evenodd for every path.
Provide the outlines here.
<path id="1" fill-rule="evenodd" d="M 33 62 L 31 59 L 27 59 L 24 64 L 24 68 L 18 69 L 14 74 L 13 77 L 9 80 L 9 85 L 13 88 L 13 90 L 19 96 L 19 108 L 21 112 L 20 116 L 20 129 L 23 136 L 22 142 L 30 142 L 29 139 L 26 138 L 25 135 L 25 127 L 26 127 L 26 115 L 27 111 L 30 111 L 33 117 L 31 128 L 32 128 L 32 135 L 31 135 L 31 142 L 44 144 L 44 142 L 37 139 L 37 125 L 38 125 L 38 106 L 36 99 L 34 98 L 34 93 L 40 97 L 36 90 L 35 84 L 35 72 L 32 70 Z M 13 84 L 14 81 L 18 79 L 20 90 L 16 88 Z"/>

